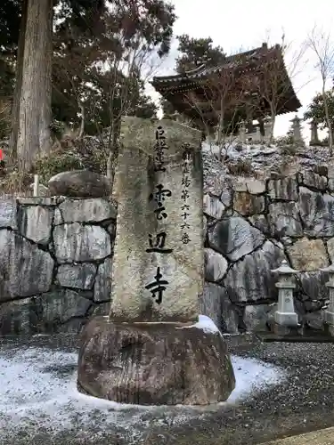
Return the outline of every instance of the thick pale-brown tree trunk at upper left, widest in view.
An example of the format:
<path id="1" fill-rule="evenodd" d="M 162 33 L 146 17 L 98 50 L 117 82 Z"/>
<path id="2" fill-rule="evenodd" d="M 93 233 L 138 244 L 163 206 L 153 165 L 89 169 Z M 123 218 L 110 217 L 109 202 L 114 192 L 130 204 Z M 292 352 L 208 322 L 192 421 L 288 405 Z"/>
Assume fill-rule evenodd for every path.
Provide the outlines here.
<path id="1" fill-rule="evenodd" d="M 53 0 L 28 0 L 20 93 L 17 151 L 29 171 L 39 153 L 51 149 Z"/>

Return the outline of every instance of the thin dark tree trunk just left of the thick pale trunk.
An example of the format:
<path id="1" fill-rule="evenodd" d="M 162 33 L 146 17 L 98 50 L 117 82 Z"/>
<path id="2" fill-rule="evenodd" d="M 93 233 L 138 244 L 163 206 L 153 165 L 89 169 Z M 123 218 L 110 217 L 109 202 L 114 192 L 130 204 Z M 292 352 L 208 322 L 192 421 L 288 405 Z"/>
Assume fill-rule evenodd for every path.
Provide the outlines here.
<path id="1" fill-rule="evenodd" d="M 17 143 L 19 137 L 20 93 L 22 90 L 23 53 L 24 53 L 24 43 L 26 39 L 27 6 L 28 6 L 28 0 L 23 0 L 22 15 L 20 19 L 18 52 L 16 55 L 15 89 L 12 98 L 12 129 L 9 141 L 10 153 L 12 158 L 17 158 Z"/>

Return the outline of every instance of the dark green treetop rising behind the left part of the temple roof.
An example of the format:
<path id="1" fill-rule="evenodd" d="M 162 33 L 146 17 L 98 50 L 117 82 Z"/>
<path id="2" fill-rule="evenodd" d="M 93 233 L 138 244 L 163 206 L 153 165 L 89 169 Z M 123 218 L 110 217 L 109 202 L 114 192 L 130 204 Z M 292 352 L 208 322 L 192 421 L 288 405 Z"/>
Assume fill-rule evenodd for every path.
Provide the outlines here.
<path id="1" fill-rule="evenodd" d="M 225 54 L 221 46 L 213 46 L 211 37 L 192 38 L 187 34 L 177 36 L 180 57 L 176 59 L 176 71 L 182 73 L 195 69 L 198 63 L 208 61 L 208 65 L 217 65 L 224 61 Z"/>

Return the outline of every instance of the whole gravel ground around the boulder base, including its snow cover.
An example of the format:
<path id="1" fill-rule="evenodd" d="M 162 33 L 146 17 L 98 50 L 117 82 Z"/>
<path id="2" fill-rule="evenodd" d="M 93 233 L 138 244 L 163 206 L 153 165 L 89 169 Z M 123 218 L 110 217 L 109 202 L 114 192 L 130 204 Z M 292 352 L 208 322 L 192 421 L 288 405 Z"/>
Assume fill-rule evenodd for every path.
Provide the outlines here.
<path id="1" fill-rule="evenodd" d="M 334 344 L 229 343 L 239 387 L 228 403 L 125 409 L 77 393 L 76 336 L 2 338 L 0 443 L 256 445 L 334 425 Z"/>

